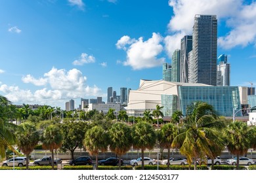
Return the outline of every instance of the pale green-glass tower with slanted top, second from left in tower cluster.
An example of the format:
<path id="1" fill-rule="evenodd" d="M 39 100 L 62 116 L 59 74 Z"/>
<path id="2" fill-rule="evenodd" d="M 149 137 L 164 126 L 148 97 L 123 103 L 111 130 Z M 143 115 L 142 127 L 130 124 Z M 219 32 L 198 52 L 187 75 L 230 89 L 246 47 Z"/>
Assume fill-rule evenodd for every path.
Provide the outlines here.
<path id="1" fill-rule="evenodd" d="M 173 52 L 171 58 L 171 81 L 180 82 L 180 50 Z"/>

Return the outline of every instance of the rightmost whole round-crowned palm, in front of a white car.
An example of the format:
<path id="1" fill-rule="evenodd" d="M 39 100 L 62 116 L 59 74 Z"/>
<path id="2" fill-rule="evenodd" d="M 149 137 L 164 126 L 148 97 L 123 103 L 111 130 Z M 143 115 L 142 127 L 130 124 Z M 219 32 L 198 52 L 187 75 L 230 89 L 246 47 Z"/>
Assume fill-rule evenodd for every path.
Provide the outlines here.
<path id="1" fill-rule="evenodd" d="M 226 146 L 232 154 L 236 154 L 236 169 L 239 169 L 239 157 L 247 153 L 251 146 L 251 129 L 244 122 L 232 122 L 224 131 Z"/>

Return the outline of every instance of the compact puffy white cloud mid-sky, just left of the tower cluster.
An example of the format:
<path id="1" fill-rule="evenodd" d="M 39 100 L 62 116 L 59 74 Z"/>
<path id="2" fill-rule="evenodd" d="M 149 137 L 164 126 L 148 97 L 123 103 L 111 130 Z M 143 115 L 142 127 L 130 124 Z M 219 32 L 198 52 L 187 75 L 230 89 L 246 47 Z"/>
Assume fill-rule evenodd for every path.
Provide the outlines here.
<path id="1" fill-rule="evenodd" d="M 161 42 L 163 38 L 158 33 L 153 33 L 152 37 L 147 41 L 143 41 L 140 37 L 138 40 L 131 41 L 129 37 L 121 37 L 117 41 L 117 48 L 122 49 L 122 46 L 129 44 L 127 48 L 127 59 L 123 62 L 125 66 L 131 66 L 134 70 L 152 68 L 160 66 L 164 63 L 165 58 L 158 58 L 163 51 Z"/>

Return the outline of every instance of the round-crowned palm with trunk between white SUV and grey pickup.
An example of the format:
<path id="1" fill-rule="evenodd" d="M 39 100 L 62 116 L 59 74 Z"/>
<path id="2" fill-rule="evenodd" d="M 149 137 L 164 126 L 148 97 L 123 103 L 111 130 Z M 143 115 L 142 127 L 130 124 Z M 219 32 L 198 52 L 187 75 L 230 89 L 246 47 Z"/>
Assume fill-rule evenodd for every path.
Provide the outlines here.
<path id="1" fill-rule="evenodd" d="M 21 152 L 26 155 L 26 169 L 28 170 L 29 155 L 39 141 L 39 133 L 31 122 L 25 122 L 20 127 L 20 130 L 16 132 L 17 145 Z"/>

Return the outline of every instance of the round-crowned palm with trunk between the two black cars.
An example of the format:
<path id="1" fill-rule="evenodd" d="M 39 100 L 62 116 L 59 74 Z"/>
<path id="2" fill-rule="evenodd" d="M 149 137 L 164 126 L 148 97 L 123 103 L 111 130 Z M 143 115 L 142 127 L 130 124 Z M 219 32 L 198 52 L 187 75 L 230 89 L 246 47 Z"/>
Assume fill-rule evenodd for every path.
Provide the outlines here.
<path id="1" fill-rule="evenodd" d="M 98 169 L 98 153 L 108 150 L 108 132 L 100 125 L 95 125 L 85 133 L 83 144 L 89 153 L 96 156 L 96 169 Z"/>

